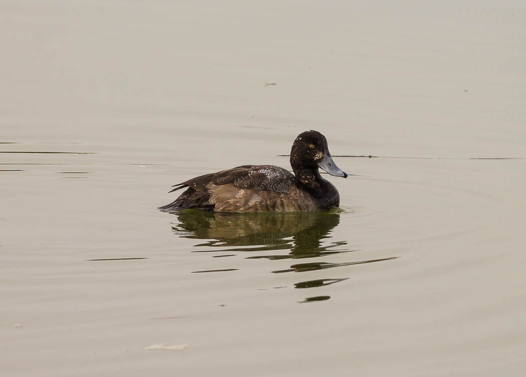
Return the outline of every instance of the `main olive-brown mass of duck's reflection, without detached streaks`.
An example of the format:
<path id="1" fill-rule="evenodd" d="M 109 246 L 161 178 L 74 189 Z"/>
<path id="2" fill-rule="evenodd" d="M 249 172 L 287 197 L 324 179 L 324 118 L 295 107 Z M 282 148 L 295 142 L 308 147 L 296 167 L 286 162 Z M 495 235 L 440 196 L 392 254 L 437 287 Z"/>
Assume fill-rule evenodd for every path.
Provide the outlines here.
<path id="1" fill-rule="evenodd" d="M 347 252 L 345 241 L 322 246 L 322 240 L 340 222 L 338 212 L 176 213 L 179 224 L 172 227 L 183 238 L 204 239 L 195 246 L 221 247 L 221 251 L 287 250 L 287 254 L 248 258 L 314 258 Z M 206 251 L 219 251 L 208 249 Z"/>

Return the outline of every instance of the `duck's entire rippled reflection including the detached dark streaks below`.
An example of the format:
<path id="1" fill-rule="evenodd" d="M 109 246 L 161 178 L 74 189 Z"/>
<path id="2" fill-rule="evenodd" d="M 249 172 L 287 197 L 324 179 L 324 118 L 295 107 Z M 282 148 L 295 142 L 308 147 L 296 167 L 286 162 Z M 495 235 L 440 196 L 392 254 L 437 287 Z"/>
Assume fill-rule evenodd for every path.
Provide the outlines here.
<path id="1" fill-rule="evenodd" d="M 204 248 L 195 252 L 228 252 L 214 257 L 236 256 L 232 252 L 263 252 L 247 259 L 266 258 L 269 260 L 319 258 L 333 254 L 352 252 L 345 248 L 346 241 L 327 242 L 332 229 L 340 222 L 341 210 L 329 212 L 292 213 L 216 213 L 186 210 L 175 213 L 177 223 L 172 227 L 174 233 L 183 238 L 206 240 L 196 247 Z M 273 251 L 274 253 L 265 253 Z M 284 253 L 276 254 L 276 251 Z M 271 271 L 305 272 L 324 270 L 353 264 L 372 263 L 395 259 L 382 258 L 349 262 L 309 262 L 292 264 L 289 269 Z M 206 270 L 193 272 L 221 272 L 236 269 Z M 295 288 L 323 287 L 349 278 L 326 278 L 302 281 Z M 328 300 L 330 296 L 306 298 L 301 302 Z"/>

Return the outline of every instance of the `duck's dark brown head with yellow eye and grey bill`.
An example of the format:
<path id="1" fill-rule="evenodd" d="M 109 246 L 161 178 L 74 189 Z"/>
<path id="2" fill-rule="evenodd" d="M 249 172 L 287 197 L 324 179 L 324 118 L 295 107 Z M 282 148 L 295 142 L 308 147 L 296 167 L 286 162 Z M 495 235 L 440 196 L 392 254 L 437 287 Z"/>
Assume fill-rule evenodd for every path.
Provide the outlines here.
<path id="1" fill-rule="evenodd" d="M 321 168 L 331 176 L 347 178 L 347 173 L 332 160 L 327 139 L 318 131 L 310 130 L 298 135 L 290 151 L 290 165 L 295 172 L 305 168 Z"/>

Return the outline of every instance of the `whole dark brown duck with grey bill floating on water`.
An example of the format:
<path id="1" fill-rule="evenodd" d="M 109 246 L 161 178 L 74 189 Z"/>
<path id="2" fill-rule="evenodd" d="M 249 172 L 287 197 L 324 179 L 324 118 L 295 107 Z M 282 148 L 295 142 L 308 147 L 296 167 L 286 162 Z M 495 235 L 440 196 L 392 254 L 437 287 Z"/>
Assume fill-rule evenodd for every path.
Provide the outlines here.
<path id="1" fill-rule="evenodd" d="M 188 179 L 174 185 L 186 188 L 173 202 L 159 207 L 165 212 L 196 209 L 214 212 L 328 211 L 340 205 L 334 185 L 319 169 L 347 178 L 332 159 L 327 139 L 315 130 L 298 135 L 290 150 L 287 169 L 274 165 L 241 165 Z"/>

